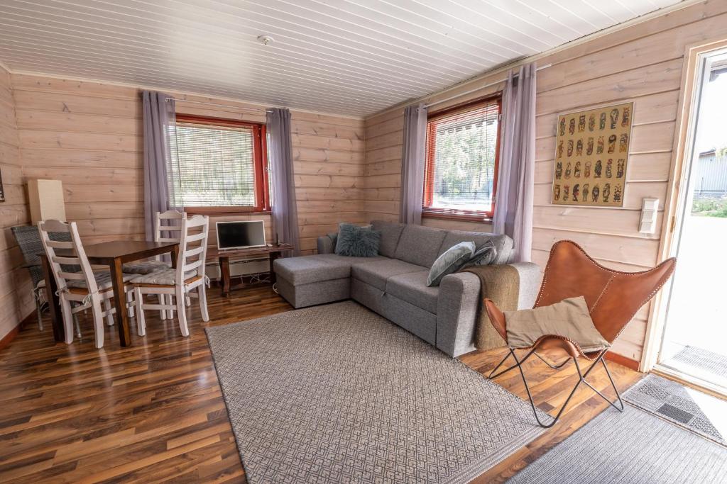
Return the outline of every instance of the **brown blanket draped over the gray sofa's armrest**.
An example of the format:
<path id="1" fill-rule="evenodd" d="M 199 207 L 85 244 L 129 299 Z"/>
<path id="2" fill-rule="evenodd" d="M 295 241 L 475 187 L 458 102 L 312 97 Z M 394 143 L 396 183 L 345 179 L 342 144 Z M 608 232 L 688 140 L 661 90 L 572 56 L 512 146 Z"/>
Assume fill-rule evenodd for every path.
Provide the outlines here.
<path id="1" fill-rule="evenodd" d="M 462 269 L 480 278 L 480 308 L 475 326 L 475 347 L 489 350 L 506 346 L 505 340 L 492 327 L 483 307 L 485 298 L 491 299 L 501 311 L 516 311 L 520 295 L 520 274 L 513 266 L 471 266 Z"/>

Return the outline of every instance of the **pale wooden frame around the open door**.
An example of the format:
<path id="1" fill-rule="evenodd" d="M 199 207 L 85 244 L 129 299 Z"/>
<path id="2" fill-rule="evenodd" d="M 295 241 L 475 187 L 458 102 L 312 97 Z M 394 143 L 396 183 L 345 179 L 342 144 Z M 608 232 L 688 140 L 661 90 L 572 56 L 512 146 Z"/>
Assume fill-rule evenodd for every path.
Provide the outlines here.
<path id="1" fill-rule="evenodd" d="M 678 244 L 677 234 L 680 233 L 682 217 L 680 207 L 683 200 L 688 197 L 688 170 L 689 158 L 693 151 L 695 117 L 698 110 L 701 89 L 696 89 L 700 81 L 700 56 L 707 52 L 727 48 L 727 38 L 721 37 L 709 41 L 702 41 L 686 47 L 682 67 L 679 103 L 677 107 L 677 123 L 674 141 L 672 144 L 672 163 L 670 179 L 667 186 L 667 197 L 664 200 L 664 219 L 662 221 L 662 238 L 659 242 L 659 261 L 672 256 Z M 677 261 L 678 263 L 678 261 Z M 646 337 L 644 338 L 643 353 L 639 370 L 650 372 L 656 365 L 659 351 L 662 347 L 664 330 L 666 328 L 667 305 L 672 290 L 672 281 L 659 291 L 649 309 Z"/>

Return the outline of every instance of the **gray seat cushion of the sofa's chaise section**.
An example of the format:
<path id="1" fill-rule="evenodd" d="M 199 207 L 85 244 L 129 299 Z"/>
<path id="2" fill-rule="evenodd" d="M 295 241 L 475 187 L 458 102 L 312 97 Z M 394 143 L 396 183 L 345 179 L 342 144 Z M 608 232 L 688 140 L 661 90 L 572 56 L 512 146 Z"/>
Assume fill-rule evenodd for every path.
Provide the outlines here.
<path id="1" fill-rule="evenodd" d="M 376 257 L 346 257 L 337 254 L 303 255 L 276 259 L 273 270 L 294 286 L 311 282 L 343 279 L 351 275 L 351 266 L 364 261 L 378 261 Z"/>

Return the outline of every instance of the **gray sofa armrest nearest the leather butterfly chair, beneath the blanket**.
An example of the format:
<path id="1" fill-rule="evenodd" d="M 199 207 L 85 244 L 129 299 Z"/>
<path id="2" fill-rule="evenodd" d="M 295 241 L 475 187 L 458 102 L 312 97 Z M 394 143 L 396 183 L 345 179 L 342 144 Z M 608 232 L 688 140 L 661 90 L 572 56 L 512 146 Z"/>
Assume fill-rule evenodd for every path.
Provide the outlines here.
<path id="1" fill-rule="evenodd" d="M 518 309 L 532 308 L 542 279 L 540 267 L 530 262 L 507 266 L 518 273 Z M 471 272 L 444 276 L 437 300 L 437 348 L 449 356 L 475 350 L 475 329 L 483 311 L 481 300 L 488 297 L 481 293 L 480 278 Z"/>

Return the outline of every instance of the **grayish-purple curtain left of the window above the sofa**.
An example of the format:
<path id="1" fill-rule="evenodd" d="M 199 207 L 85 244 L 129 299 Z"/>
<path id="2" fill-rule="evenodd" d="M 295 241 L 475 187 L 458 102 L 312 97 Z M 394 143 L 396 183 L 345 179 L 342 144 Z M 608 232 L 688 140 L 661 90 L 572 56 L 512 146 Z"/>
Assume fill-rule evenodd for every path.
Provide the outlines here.
<path id="1" fill-rule="evenodd" d="M 424 158 L 427 142 L 427 107 L 407 106 L 401 152 L 401 210 L 399 221 L 422 223 Z"/>

